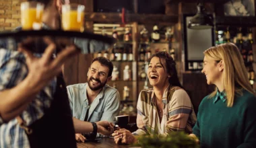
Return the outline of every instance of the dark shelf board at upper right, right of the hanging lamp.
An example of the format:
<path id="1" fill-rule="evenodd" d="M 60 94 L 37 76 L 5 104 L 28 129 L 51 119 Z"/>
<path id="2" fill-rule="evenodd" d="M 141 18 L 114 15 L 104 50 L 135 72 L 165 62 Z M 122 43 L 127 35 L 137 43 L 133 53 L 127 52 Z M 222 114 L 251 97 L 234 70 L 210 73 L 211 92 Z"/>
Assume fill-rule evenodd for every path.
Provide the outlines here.
<path id="1" fill-rule="evenodd" d="M 232 26 L 256 26 L 256 17 L 246 16 L 216 16 L 216 25 L 232 25 Z"/>

